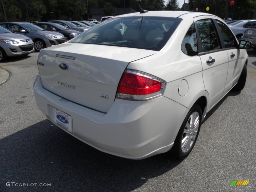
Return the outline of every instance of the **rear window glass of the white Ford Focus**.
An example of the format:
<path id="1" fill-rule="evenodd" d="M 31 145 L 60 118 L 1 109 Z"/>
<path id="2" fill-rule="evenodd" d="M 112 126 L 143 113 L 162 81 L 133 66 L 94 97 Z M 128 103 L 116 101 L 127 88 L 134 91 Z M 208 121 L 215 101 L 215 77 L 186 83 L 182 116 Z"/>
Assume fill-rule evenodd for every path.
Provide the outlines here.
<path id="1" fill-rule="evenodd" d="M 100 23 L 70 43 L 100 44 L 161 50 L 182 19 L 172 17 L 118 17 Z"/>

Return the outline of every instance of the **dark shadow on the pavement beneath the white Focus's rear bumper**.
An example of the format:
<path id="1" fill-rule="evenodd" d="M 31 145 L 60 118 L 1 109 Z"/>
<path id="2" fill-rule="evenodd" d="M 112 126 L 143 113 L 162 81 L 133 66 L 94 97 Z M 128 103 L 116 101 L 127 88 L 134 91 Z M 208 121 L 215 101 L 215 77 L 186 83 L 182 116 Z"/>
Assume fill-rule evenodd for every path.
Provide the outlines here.
<path id="1" fill-rule="evenodd" d="M 181 162 L 169 153 L 139 161 L 109 155 L 48 120 L 2 138 L 0 146 L 0 191 L 132 191 Z"/>

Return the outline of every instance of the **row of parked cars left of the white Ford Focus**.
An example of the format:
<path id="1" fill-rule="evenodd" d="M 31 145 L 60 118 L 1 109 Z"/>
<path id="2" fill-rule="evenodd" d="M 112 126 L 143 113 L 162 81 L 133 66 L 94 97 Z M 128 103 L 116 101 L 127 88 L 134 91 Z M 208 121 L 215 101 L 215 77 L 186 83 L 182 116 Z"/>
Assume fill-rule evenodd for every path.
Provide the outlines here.
<path id="1" fill-rule="evenodd" d="M 62 44 L 93 27 L 89 21 L 2 22 L 0 23 L 0 62 L 7 57 L 28 55 Z M 4 35 L 3 35 L 4 34 Z"/>

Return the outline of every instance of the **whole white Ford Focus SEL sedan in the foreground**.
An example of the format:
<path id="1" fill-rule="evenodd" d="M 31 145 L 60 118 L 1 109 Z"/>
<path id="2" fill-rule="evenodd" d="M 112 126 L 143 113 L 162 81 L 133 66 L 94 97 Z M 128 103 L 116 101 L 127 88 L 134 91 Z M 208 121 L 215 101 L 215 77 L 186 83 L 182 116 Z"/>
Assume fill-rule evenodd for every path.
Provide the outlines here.
<path id="1" fill-rule="evenodd" d="M 182 159 L 207 112 L 232 88 L 243 89 L 250 47 L 211 14 L 112 17 L 40 51 L 36 103 L 48 120 L 100 151 L 143 159 L 172 148 Z"/>

